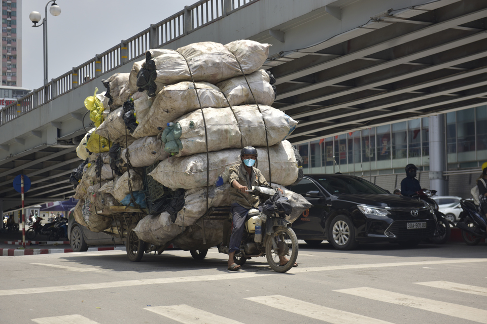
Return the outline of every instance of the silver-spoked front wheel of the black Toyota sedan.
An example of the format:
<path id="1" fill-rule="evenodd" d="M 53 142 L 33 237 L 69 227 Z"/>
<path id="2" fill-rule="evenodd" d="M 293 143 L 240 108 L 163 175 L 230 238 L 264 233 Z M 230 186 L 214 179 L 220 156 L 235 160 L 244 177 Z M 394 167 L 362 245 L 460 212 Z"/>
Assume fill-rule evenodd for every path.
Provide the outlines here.
<path id="1" fill-rule="evenodd" d="M 337 250 L 352 250 L 359 245 L 355 240 L 354 223 L 345 215 L 333 218 L 330 223 L 328 237 L 333 247 Z"/>

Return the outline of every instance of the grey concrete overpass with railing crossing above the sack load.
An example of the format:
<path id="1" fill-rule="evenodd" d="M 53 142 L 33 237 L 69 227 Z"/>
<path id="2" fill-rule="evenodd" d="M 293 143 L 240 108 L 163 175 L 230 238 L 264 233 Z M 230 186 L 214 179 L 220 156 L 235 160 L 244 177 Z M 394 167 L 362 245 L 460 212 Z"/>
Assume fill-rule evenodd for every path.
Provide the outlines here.
<path id="1" fill-rule="evenodd" d="M 28 204 L 73 194 L 84 99 L 148 49 L 271 44 L 274 107 L 300 121 L 297 144 L 487 103 L 486 17 L 487 2 L 476 0 L 199 1 L 2 111 L 3 210 L 20 204 L 12 187 L 20 173 L 32 180 Z"/>

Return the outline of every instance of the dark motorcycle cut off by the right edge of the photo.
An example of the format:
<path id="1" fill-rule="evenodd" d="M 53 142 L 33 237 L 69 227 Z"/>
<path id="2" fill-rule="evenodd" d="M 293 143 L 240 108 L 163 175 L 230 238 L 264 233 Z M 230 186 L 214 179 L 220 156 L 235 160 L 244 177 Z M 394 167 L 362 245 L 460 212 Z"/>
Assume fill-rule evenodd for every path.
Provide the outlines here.
<path id="1" fill-rule="evenodd" d="M 460 200 L 463 212 L 457 227 L 462 230 L 462 239 L 467 245 L 477 245 L 482 238 L 487 239 L 487 220 L 481 215 L 477 207 L 468 200 Z"/>

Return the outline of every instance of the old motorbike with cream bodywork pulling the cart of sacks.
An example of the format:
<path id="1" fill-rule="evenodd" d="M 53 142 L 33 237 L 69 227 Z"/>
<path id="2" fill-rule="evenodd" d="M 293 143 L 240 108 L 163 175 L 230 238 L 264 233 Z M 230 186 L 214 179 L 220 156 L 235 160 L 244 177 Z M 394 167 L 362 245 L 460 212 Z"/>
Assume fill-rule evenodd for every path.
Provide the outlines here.
<path id="1" fill-rule="evenodd" d="M 247 215 L 245 230 L 233 261 L 242 266 L 248 259 L 265 256 L 267 263 L 276 272 L 289 271 L 298 257 L 298 239 L 291 223 L 285 219 L 286 214 L 276 199 L 280 194 L 272 188 L 254 186 L 249 193 L 257 194 L 260 201 L 265 201 L 263 211 L 251 209 Z M 232 215 L 228 216 L 228 222 L 223 227 L 223 243 L 218 247 L 218 252 L 228 254 L 230 234 L 233 226 Z M 232 224 L 233 225 L 233 224 Z M 280 258 L 287 256 L 289 261 L 280 265 Z"/>

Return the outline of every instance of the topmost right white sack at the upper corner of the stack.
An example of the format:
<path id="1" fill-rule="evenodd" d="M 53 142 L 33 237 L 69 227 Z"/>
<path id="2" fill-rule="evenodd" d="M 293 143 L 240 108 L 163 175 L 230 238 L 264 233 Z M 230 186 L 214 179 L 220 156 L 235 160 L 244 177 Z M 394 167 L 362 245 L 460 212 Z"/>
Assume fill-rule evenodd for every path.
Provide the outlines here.
<path id="1" fill-rule="evenodd" d="M 269 46 L 249 39 L 240 39 L 225 45 L 240 63 L 243 74 L 255 72 L 264 64 L 269 57 Z"/>

